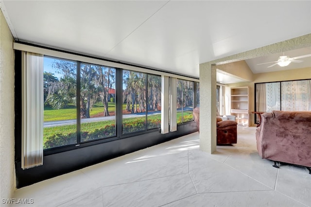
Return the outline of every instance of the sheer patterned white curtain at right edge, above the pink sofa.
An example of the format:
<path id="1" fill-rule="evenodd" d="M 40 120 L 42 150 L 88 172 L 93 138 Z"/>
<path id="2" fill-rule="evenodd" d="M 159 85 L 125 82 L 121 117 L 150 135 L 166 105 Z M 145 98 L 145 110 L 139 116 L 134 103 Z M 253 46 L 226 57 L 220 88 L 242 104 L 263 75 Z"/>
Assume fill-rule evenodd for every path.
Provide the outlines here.
<path id="1" fill-rule="evenodd" d="M 282 111 L 311 111 L 311 80 L 285 81 L 282 85 Z"/>

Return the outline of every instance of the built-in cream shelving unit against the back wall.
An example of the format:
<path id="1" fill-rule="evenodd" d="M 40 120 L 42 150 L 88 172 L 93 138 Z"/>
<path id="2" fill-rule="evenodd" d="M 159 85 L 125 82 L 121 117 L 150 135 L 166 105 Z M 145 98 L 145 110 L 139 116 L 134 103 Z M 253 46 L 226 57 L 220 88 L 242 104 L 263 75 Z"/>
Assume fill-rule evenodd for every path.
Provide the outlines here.
<path id="1" fill-rule="evenodd" d="M 248 87 L 231 88 L 231 115 L 236 116 L 238 125 L 249 126 Z"/>

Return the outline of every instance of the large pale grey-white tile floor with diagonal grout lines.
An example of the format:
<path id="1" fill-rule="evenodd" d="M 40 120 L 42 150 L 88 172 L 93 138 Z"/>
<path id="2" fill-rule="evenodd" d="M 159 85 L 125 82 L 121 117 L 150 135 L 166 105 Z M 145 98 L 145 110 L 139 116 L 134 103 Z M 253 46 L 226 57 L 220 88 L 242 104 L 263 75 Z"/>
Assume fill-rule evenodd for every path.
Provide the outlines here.
<path id="1" fill-rule="evenodd" d="M 199 150 L 198 132 L 18 189 L 37 207 L 307 207 L 305 168 L 259 158 L 255 127 L 238 143 Z M 21 205 L 16 205 L 20 207 Z"/>

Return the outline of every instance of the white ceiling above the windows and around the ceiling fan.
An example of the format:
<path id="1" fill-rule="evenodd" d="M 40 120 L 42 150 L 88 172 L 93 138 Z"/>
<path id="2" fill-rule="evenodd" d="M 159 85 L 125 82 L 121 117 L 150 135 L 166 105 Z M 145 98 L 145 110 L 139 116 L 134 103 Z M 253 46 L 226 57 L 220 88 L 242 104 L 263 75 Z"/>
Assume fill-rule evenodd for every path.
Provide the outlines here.
<path id="1" fill-rule="evenodd" d="M 190 77 L 199 77 L 201 63 L 311 33 L 311 1 L 0 0 L 0 7 L 16 40 Z M 278 56 L 247 64 L 254 73 L 284 69 L 256 65 Z"/>

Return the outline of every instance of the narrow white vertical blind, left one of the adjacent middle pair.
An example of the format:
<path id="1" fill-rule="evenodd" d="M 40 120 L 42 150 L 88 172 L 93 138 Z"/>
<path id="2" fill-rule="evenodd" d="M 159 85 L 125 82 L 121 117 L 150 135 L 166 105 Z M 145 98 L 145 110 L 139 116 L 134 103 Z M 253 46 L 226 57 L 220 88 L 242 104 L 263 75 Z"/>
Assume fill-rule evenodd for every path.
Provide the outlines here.
<path id="1" fill-rule="evenodd" d="M 161 78 L 161 134 L 166 134 L 169 133 L 169 77 Z"/>

